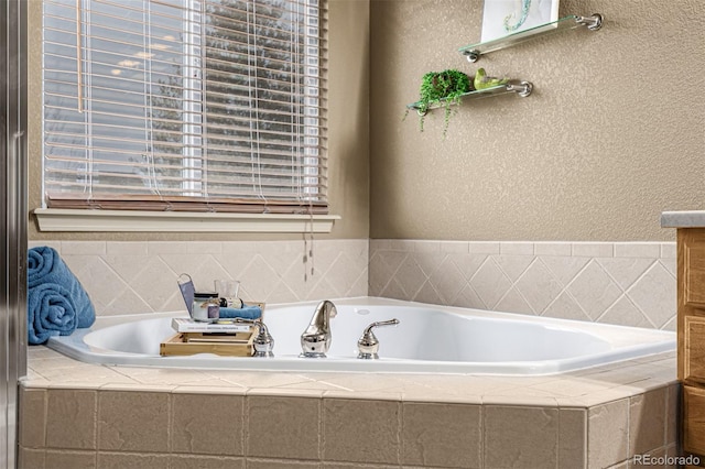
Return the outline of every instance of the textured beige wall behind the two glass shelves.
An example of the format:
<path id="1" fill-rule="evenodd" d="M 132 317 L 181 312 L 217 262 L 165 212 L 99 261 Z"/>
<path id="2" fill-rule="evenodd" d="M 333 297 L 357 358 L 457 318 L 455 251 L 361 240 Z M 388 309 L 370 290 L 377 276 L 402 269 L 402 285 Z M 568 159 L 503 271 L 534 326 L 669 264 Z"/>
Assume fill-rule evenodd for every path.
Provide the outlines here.
<path id="1" fill-rule="evenodd" d="M 371 1 L 371 238 L 672 240 L 666 209 L 705 208 L 701 0 L 561 0 L 581 29 L 470 64 L 481 0 Z M 429 70 L 534 84 L 466 102 L 442 138 L 402 121 Z"/>

